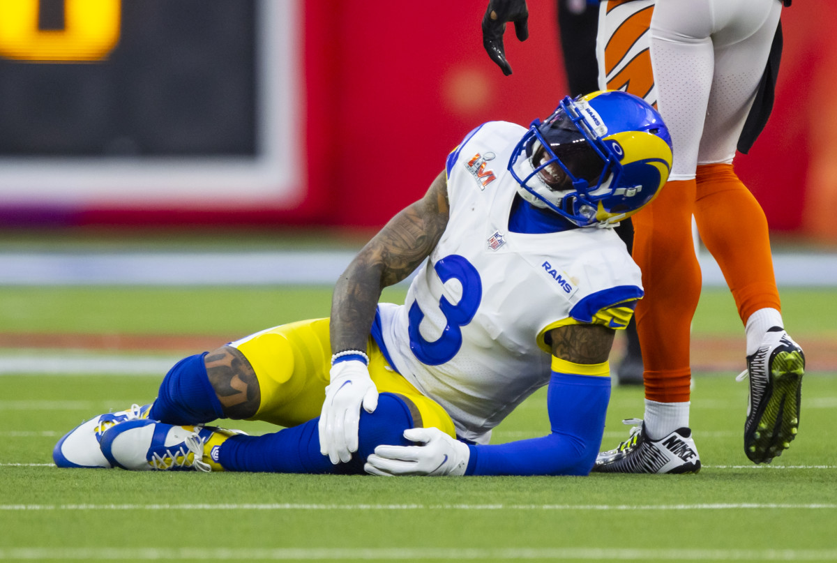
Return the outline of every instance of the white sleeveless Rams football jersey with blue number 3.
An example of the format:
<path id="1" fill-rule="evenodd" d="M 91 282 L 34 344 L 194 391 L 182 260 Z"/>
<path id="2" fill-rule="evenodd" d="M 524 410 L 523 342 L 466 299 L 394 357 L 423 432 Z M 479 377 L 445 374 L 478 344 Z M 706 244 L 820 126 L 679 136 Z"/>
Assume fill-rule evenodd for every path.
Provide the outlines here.
<path id="1" fill-rule="evenodd" d="M 373 331 L 393 368 L 478 443 L 549 381 L 549 329 L 642 295 L 612 229 L 510 232 L 518 184 L 506 164 L 524 132 L 491 121 L 451 153 L 447 228 L 404 304 L 379 305 Z"/>

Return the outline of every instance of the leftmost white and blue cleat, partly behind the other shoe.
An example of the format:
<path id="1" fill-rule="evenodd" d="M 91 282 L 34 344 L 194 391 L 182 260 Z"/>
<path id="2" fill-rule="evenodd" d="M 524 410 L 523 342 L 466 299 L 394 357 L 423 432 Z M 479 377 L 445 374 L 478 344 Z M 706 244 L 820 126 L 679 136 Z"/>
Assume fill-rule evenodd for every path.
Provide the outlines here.
<path id="1" fill-rule="evenodd" d="M 111 426 L 122 422 L 144 419 L 150 410 L 151 404 L 131 405 L 127 411 L 109 412 L 82 422 L 55 444 L 53 448 L 55 465 L 58 467 L 113 467 L 101 452 L 102 434 Z"/>

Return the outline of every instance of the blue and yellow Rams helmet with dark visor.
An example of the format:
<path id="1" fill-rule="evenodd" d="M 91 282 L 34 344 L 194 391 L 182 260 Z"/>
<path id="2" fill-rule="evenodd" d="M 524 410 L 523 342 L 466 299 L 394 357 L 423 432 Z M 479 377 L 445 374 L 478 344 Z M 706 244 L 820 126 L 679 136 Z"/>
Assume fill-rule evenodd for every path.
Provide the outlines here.
<path id="1" fill-rule="evenodd" d="M 565 97 L 532 121 L 509 160 L 521 196 L 579 227 L 614 225 L 659 193 L 671 136 L 642 98 L 619 90 Z"/>

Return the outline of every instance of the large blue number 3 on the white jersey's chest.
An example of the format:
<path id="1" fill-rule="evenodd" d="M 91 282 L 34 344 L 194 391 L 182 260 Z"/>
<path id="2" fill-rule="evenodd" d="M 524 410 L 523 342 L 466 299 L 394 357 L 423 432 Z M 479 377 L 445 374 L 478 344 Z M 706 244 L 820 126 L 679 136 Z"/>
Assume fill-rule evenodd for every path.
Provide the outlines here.
<path id="1" fill-rule="evenodd" d="M 427 365 L 439 365 L 452 359 L 462 346 L 462 327 L 471 322 L 482 301 L 480 272 L 464 257 L 452 254 L 437 261 L 434 270 L 442 283 L 455 279 L 462 285 L 462 297 L 456 305 L 447 297 L 439 299 L 439 310 L 447 321 L 442 335 L 434 342 L 428 342 L 419 333 L 419 324 L 424 312 L 418 302 L 413 302 L 409 311 L 410 349 L 416 358 Z"/>

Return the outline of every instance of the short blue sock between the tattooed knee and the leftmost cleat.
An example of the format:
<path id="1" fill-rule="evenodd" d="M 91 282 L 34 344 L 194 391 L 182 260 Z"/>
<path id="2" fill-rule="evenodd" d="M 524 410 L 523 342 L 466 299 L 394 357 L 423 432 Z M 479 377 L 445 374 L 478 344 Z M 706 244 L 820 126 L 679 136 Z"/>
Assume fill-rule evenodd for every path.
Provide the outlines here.
<path id="1" fill-rule="evenodd" d="M 204 424 L 223 418 L 223 407 L 209 383 L 203 354 L 174 364 L 160 384 L 148 418 L 167 424 Z"/>

